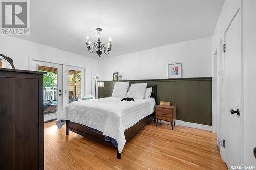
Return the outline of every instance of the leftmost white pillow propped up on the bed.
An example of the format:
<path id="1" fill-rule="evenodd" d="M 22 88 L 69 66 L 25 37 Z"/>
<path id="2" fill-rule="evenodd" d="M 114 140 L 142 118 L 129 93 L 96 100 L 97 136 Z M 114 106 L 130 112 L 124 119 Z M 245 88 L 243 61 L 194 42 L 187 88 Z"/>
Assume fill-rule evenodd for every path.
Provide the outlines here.
<path id="1" fill-rule="evenodd" d="M 112 97 L 125 98 L 129 87 L 129 82 L 116 82 Z"/>

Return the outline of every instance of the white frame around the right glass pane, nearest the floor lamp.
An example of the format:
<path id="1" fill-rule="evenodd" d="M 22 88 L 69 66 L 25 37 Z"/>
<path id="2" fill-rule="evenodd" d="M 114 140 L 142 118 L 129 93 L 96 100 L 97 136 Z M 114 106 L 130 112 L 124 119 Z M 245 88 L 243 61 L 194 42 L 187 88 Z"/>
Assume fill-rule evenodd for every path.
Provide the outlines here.
<path id="1" fill-rule="evenodd" d="M 82 80 L 81 80 L 81 96 L 86 94 L 86 68 L 76 67 L 71 65 L 63 65 L 63 108 L 66 107 L 69 102 L 69 93 L 68 93 L 68 70 L 81 71 Z"/>

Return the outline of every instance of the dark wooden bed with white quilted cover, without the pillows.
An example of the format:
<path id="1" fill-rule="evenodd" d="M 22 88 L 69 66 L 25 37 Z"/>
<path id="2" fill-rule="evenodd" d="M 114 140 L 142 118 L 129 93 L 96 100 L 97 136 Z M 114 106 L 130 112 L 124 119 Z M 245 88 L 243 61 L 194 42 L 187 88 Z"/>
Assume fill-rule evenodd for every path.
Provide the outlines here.
<path id="1" fill-rule="evenodd" d="M 155 119 L 157 89 L 147 87 L 152 87 L 148 99 L 125 102 L 109 97 L 72 102 L 58 115 L 56 124 L 61 128 L 66 123 L 66 135 L 72 131 L 110 145 L 121 159 L 125 143 Z"/>

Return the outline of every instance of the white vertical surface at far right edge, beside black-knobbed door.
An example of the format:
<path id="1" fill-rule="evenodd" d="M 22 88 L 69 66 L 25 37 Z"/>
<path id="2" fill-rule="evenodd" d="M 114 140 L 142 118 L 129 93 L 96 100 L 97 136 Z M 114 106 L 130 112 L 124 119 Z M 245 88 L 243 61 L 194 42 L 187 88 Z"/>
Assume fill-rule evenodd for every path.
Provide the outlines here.
<path id="1" fill-rule="evenodd" d="M 256 1 L 244 2 L 244 164 L 256 166 Z"/>

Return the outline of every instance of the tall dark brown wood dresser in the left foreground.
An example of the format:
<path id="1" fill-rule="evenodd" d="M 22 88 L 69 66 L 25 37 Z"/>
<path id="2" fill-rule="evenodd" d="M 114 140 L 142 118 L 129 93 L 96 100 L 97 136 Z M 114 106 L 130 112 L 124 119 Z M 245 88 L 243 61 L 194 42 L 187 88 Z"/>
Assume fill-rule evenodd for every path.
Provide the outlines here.
<path id="1" fill-rule="evenodd" d="M 0 68 L 0 169 L 44 169 L 42 74 Z"/>

